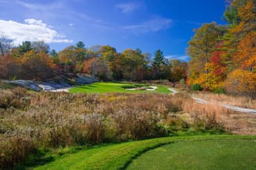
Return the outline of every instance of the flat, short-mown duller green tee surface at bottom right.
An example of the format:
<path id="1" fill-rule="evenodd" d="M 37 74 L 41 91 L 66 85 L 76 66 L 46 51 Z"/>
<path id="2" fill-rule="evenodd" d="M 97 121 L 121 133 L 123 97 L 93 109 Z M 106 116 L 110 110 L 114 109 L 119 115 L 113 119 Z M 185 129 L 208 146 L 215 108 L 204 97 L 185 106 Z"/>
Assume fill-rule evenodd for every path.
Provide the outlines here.
<path id="1" fill-rule="evenodd" d="M 143 153 L 128 169 L 256 169 L 255 139 L 177 142 Z"/>

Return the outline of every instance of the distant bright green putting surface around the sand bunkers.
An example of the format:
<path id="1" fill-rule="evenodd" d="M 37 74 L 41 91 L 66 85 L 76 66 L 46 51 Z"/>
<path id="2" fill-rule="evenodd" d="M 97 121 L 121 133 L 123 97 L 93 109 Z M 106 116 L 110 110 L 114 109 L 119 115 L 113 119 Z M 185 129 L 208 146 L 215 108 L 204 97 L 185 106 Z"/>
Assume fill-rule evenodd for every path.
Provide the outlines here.
<path id="1" fill-rule="evenodd" d="M 93 83 L 91 85 L 81 85 L 78 87 L 72 87 L 71 93 L 166 93 L 169 94 L 170 90 L 166 86 L 157 86 L 155 91 L 147 90 L 126 90 L 125 88 L 136 88 L 136 87 L 148 87 L 149 85 L 133 84 L 133 83 L 113 83 L 113 82 L 100 82 Z"/>

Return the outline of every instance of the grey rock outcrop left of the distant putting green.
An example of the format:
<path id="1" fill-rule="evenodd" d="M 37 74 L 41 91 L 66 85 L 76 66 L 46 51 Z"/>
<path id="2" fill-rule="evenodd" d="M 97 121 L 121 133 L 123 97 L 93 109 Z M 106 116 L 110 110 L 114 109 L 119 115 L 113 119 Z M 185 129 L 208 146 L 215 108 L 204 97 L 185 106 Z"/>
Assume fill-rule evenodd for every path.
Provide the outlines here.
<path id="1" fill-rule="evenodd" d="M 75 83 L 91 84 L 97 81 L 98 81 L 97 78 L 92 76 L 78 76 Z M 33 80 L 12 80 L 7 82 L 13 83 L 15 85 L 19 85 L 19 86 L 25 87 L 26 89 L 30 89 L 34 91 L 52 91 L 52 90 L 72 87 L 71 84 L 67 83 L 67 80 L 65 80 L 65 78 L 49 80 L 47 82 L 35 82 Z"/>

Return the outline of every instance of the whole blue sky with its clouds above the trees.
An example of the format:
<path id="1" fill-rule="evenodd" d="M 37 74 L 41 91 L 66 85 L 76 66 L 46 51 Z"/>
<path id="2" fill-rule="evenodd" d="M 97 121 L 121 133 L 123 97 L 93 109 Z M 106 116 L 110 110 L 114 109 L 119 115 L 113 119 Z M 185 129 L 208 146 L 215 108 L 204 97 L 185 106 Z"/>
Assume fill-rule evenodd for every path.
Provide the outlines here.
<path id="1" fill-rule="evenodd" d="M 61 50 L 83 41 L 187 60 L 193 28 L 223 22 L 225 0 L 0 0 L 0 33 L 15 44 L 44 40 Z"/>

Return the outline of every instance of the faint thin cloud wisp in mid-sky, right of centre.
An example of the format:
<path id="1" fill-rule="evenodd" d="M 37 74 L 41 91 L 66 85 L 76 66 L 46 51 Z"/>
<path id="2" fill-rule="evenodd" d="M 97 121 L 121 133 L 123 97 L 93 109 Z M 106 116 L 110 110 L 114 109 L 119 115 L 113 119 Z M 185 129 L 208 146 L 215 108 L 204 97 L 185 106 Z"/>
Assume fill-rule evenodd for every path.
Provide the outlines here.
<path id="1" fill-rule="evenodd" d="M 169 28 L 172 23 L 172 19 L 155 17 L 147 22 L 143 22 L 142 24 L 122 26 L 122 28 L 125 30 L 132 31 L 133 33 L 148 33 L 157 32 L 162 29 Z"/>

